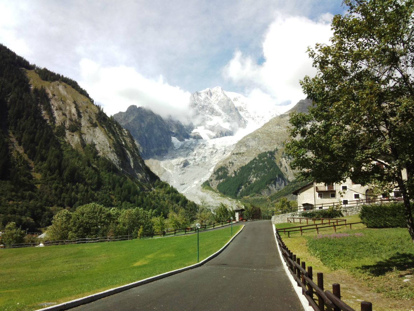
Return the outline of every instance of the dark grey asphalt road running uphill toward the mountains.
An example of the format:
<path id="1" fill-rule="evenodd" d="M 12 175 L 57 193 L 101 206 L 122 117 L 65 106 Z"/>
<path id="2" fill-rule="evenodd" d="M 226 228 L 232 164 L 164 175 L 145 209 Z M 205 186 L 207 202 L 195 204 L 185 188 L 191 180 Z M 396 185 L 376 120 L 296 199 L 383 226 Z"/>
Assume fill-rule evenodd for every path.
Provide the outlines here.
<path id="1" fill-rule="evenodd" d="M 76 311 L 303 311 L 279 254 L 270 220 L 246 227 L 205 265 L 108 296 Z"/>

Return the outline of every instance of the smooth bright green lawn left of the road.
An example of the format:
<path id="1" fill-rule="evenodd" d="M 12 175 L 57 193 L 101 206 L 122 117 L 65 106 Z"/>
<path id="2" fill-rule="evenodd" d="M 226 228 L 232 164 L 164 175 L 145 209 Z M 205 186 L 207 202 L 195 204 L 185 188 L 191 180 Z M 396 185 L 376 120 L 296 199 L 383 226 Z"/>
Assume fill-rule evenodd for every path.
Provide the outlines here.
<path id="1" fill-rule="evenodd" d="M 233 227 L 234 235 L 242 226 Z M 200 232 L 200 260 L 229 241 L 230 230 Z M 0 310 L 36 310 L 195 264 L 197 235 L 2 249 L 0 262 Z"/>

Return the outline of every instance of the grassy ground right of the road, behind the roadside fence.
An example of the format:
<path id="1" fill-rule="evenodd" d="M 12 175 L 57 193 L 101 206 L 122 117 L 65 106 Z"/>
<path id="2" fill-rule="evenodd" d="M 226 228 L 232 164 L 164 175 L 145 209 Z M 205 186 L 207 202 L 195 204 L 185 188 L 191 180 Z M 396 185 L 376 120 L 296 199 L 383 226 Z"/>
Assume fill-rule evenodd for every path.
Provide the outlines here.
<path id="1" fill-rule="evenodd" d="M 358 216 L 343 218 L 348 223 L 360 221 Z M 334 233 L 333 228 L 319 230 L 320 235 Z M 370 229 L 357 224 L 352 230 L 338 228 L 337 233 L 350 236 L 317 238 L 315 231 L 281 236 L 306 266 L 313 266 L 314 275 L 324 273 L 326 289 L 332 291 L 334 282 L 341 284 L 342 299 L 355 310 L 361 300 L 371 301 L 376 311 L 414 309 L 414 277 L 410 277 L 414 275 L 414 245 L 407 228 Z"/>

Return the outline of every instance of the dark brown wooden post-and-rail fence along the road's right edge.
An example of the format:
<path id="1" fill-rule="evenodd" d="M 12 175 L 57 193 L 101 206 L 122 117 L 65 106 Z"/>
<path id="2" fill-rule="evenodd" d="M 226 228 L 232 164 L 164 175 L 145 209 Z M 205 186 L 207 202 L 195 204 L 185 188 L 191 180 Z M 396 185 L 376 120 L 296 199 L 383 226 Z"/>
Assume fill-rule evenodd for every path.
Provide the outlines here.
<path id="1" fill-rule="evenodd" d="M 302 288 L 302 294 L 308 300 L 309 306 L 312 306 L 315 311 L 355 311 L 350 306 L 341 300 L 341 288 L 337 283 L 332 284 L 332 292 L 325 290 L 323 284 L 323 273 L 317 273 L 317 282 L 313 282 L 313 270 L 311 266 L 308 266 L 306 270 L 306 263 L 300 261 L 300 258 L 296 258 L 287 247 L 284 245 L 279 232 L 276 231 L 276 240 L 282 251 L 283 259 L 288 267 L 289 272 L 295 279 L 298 287 Z M 368 301 L 361 302 L 361 311 L 372 311 L 372 304 Z"/>

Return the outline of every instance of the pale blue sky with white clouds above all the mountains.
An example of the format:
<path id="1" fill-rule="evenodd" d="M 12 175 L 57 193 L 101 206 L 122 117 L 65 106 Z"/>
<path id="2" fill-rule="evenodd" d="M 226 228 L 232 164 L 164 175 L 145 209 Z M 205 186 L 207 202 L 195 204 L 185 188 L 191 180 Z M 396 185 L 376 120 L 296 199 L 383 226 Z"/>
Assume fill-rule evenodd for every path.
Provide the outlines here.
<path id="1" fill-rule="evenodd" d="M 171 91 L 171 103 L 168 96 L 155 99 L 171 107 L 180 106 L 189 93 L 215 86 L 246 96 L 261 92 L 274 104 L 285 104 L 299 95 L 282 94 L 272 86 L 281 80 L 272 80 L 269 72 L 291 55 L 289 49 L 306 50 L 295 41 L 303 41 L 308 25 L 321 33 L 314 40 L 326 41 L 330 17 L 344 12 L 341 3 L 0 0 L 0 42 L 31 63 L 74 78 L 109 114 L 152 98 L 142 95 L 145 90 L 130 92 L 135 83 L 155 93 Z M 284 32 L 289 36 L 280 36 Z M 271 61 L 272 55 L 280 59 Z M 291 77 L 289 66 L 280 68 L 274 74 L 286 80 L 302 74 Z M 112 82 L 117 86 L 109 94 Z"/>

